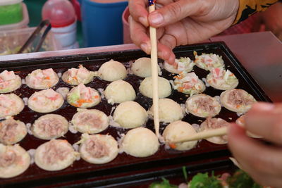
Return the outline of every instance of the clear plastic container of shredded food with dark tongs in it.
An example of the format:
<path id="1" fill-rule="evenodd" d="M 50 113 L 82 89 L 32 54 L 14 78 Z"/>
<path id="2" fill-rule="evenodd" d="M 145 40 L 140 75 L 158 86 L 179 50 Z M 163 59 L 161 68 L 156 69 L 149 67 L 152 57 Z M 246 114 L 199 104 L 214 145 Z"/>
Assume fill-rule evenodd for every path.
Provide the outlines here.
<path id="1" fill-rule="evenodd" d="M 27 41 L 28 37 L 32 35 L 35 27 L 29 27 L 20 30 L 5 30 L 0 32 L 0 55 L 16 54 L 23 44 Z M 44 40 L 42 47 L 39 51 L 53 51 L 62 49 L 61 45 L 54 38 L 53 33 L 50 31 Z M 25 53 L 32 51 L 27 49 Z M 1 57 L 0 57 L 1 59 Z"/>

